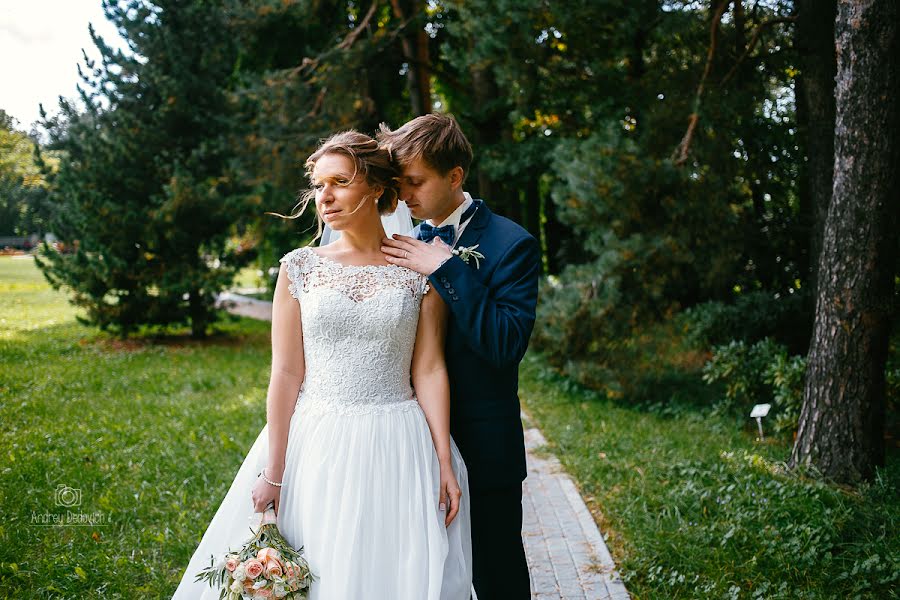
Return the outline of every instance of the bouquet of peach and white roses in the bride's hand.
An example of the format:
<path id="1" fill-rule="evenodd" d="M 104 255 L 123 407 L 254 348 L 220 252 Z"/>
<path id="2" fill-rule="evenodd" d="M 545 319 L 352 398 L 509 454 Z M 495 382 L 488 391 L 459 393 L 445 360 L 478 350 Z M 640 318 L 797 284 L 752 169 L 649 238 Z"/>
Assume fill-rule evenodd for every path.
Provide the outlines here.
<path id="1" fill-rule="evenodd" d="M 220 600 L 305 600 L 314 577 L 302 554 L 303 548 L 294 550 L 279 533 L 275 511 L 269 508 L 240 552 L 229 551 L 218 562 L 213 557 L 196 581 L 205 579 L 219 588 Z"/>

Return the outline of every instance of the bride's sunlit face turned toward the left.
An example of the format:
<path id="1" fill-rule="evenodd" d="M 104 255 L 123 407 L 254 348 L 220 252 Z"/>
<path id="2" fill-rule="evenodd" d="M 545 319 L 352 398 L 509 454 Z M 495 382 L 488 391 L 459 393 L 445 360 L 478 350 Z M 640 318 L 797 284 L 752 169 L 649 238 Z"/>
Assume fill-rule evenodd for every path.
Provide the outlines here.
<path id="1" fill-rule="evenodd" d="M 377 205 L 380 190 L 373 189 L 358 173 L 354 178 L 354 170 L 353 160 L 343 154 L 326 154 L 313 168 L 316 210 L 335 231 L 380 218 Z"/>

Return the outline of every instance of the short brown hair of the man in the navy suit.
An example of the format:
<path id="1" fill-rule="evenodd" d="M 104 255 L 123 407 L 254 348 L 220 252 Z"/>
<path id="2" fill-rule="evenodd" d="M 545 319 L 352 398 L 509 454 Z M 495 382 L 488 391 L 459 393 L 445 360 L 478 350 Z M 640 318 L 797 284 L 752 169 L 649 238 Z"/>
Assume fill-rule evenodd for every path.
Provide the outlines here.
<path id="1" fill-rule="evenodd" d="M 462 167 L 463 181 L 469 174 L 472 144 L 450 115 L 431 113 L 416 117 L 394 131 L 385 123 L 379 129 L 378 143 L 390 150 L 401 167 L 421 158 L 441 175 L 457 166 Z"/>

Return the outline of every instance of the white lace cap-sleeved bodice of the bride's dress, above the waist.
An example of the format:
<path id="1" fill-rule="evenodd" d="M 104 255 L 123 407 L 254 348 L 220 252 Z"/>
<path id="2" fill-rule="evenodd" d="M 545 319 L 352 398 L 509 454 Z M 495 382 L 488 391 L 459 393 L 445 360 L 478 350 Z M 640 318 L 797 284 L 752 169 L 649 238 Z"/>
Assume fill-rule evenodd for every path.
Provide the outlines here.
<path id="1" fill-rule="evenodd" d="M 416 406 L 410 363 L 427 278 L 396 265 L 343 265 L 311 248 L 292 250 L 280 262 L 300 303 L 306 375 L 298 409 Z"/>

